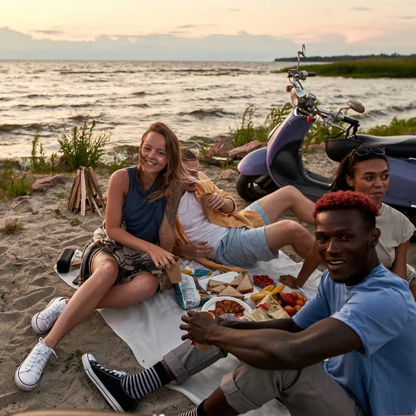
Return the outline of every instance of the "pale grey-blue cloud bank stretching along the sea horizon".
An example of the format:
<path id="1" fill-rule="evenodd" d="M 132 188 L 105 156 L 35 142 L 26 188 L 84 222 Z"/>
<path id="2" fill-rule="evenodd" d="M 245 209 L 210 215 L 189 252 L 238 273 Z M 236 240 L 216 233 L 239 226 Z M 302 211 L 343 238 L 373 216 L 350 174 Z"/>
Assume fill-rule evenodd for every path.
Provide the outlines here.
<path id="1" fill-rule="evenodd" d="M 333 33 L 310 38 L 307 56 L 367 53 L 415 53 L 406 42 L 414 39 L 416 28 L 386 30 L 360 42 L 351 42 L 336 29 Z M 0 60 L 227 60 L 272 61 L 295 56 L 300 42 L 270 35 L 191 37 L 177 33 L 114 36 L 101 35 L 94 40 L 34 39 L 31 35 L 0 28 Z"/>

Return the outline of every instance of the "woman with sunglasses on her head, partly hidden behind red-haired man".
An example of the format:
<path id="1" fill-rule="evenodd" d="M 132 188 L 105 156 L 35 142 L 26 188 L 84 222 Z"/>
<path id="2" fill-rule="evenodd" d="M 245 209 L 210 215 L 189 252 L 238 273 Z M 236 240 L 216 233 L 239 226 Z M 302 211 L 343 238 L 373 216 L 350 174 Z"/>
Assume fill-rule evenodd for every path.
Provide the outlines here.
<path id="1" fill-rule="evenodd" d="M 376 226 L 381 230 L 376 252 L 383 265 L 402 279 L 408 280 L 410 291 L 416 300 L 416 272 L 406 264 L 410 237 L 415 226 L 410 220 L 389 205 L 381 202 L 389 184 L 388 161 L 382 148 L 357 148 L 352 150 L 338 166 L 333 191 L 358 191 L 369 196 L 379 208 Z M 299 275 L 285 275 L 280 281 L 292 288 L 302 287 L 320 259 L 315 248 L 309 252 Z"/>

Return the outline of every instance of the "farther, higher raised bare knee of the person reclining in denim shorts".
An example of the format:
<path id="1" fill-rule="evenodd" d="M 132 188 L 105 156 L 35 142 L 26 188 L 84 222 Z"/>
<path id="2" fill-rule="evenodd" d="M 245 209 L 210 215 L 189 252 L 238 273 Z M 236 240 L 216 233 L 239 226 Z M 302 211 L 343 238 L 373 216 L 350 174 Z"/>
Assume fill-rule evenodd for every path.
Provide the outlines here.
<path id="1" fill-rule="evenodd" d="M 277 189 L 257 202 L 266 212 L 270 223 L 275 223 L 284 214 L 284 211 L 290 209 L 298 220 L 311 225 L 315 224 L 315 219 L 312 216 L 315 204 L 295 187 Z"/>

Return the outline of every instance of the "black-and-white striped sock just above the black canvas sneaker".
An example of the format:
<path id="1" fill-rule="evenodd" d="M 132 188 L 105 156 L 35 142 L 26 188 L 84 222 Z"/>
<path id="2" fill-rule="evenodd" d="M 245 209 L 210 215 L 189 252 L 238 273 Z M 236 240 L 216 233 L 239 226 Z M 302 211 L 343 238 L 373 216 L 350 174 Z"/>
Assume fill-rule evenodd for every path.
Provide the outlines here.
<path id="1" fill-rule="evenodd" d="M 162 363 L 156 363 L 153 367 L 132 376 L 125 376 L 121 380 L 121 386 L 130 396 L 137 400 L 153 392 L 161 385 L 169 383 L 168 373 Z"/>

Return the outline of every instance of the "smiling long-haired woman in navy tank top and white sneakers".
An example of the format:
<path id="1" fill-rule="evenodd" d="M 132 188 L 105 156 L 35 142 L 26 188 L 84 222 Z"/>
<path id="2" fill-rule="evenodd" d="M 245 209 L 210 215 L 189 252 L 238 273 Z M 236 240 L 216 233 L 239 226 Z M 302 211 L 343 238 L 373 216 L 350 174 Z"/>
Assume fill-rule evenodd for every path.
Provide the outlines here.
<path id="1" fill-rule="evenodd" d="M 94 309 L 130 306 L 164 292 L 169 281 L 163 268 L 175 262 L 180 184 L 189 180 L 175 133 L 164 123 L 150 125 L 141 139 L 139 166 L 110 178 L 105 222 L 83 252 L 80 288 L 70 300 L 51 300 L 32 318 L 37 334 L 51 331 L 17 369 L 21 390 L 35 388 L 53 349 Z"/>

